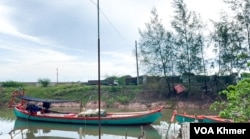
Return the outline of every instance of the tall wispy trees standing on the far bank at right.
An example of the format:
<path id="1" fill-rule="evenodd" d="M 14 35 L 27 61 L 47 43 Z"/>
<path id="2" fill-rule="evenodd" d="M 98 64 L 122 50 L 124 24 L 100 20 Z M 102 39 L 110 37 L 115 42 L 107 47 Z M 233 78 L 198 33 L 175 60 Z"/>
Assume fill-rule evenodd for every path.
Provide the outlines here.
<path id="1" fill-rule="evenodd" d="M 210 22 L 209 30 L 199 13 L 188 8 L 185 0 L 172 0 L 174 9 L 171 26 L 166 27 L 159 19 L 156 8 L 139 29 L 138 60 L 141 70 L 147 74 L 165 78 L 168 91 L 171 81 L 168 76 L 188 73 L 188 88 L 191 90 L 191 75 L 205 75 L 216 71 L 218 76 L 248 70 L 250 59 L 250 1 L 222 0 L 230 9 L 220 13 L 220 20 Z M 213 50 L 214 58 L 205 55 Z M 204 79 L 207 87 L 206 79 Z"/>

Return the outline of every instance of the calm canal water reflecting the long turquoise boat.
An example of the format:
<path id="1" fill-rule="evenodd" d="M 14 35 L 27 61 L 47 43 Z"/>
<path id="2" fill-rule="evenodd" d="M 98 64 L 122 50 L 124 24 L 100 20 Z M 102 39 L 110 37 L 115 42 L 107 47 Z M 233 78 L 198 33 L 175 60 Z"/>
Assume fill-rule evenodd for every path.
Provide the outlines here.
<path id="1" fill-rule="evenodd" d="M 186 111 L 186 110 L 178 110 Z M 162 117 L 147 126 L 101 126 L 102 139 L 176 138 L 180 125 L 170 123 L 173 110 L 164 109 Z M 209 110 L 188 110 L 207 114 Z M 0 108 L 0 139 L 98 139 L 98 126 L 43 123 L 16 119 L 12 109 Z"/>

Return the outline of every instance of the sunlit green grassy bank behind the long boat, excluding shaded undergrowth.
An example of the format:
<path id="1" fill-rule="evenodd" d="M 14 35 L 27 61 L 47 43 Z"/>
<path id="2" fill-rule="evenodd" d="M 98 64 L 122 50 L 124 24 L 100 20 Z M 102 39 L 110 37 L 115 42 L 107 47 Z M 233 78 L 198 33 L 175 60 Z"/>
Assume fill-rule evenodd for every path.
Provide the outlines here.
<path id="1" fill-rule="evenodd" d="M 88 101 L 98 100 L 98 86 L 85 84 L 59 84 L 55 86 L 23 86 L 26 95 L 44 99 L 66 99 L 78 100 L 83 104 Z M 12 92 L 16 87 L 2 87 L 0 90 L 0 105 L 8 105 Z M 133 101 L 135 96 L 141 92 L 141 86 L 101 86 L 101 100 L 107 106 L 114 102 L 127 104 Z"/>

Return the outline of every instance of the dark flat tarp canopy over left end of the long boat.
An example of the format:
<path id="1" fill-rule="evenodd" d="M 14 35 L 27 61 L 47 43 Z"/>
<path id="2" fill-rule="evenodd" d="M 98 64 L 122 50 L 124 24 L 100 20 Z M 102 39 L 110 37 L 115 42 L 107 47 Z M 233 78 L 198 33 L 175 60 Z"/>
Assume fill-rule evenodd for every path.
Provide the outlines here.
<path id="1" fill-rule="evenodd" d="M 26 100 L 26 101 L 48 102 L 48 103 L 64 103 L 64 102 L 76 102 L 77 101 L 77 100 L 41 99 L 41 98 L 35 98 L 31 96 L 26 96 L 26 95 L 20 95 L 20 96 L 15 96 L 15 97 L 20 98 L 22 100 Z"/>

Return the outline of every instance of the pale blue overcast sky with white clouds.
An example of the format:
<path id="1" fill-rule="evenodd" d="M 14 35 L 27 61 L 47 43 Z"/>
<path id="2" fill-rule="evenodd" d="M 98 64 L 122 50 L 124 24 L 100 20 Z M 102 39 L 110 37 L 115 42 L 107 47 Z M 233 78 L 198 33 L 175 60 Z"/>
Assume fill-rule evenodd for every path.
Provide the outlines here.
<path id="1" fill-rule="evenodd" d="M 185 0 L 203 20 L 221 0 Z M 0 0 L 0 82 L 98 78 L 97 0 Z M 167 26 L 171 0 L 100 0 L 101 77 L 136 76 L 138 29 L 155 7 Z M 58 69 L 58 70 L 57 70 Z M 140 73 L 143 74 L 143 73 Z"/>

